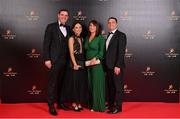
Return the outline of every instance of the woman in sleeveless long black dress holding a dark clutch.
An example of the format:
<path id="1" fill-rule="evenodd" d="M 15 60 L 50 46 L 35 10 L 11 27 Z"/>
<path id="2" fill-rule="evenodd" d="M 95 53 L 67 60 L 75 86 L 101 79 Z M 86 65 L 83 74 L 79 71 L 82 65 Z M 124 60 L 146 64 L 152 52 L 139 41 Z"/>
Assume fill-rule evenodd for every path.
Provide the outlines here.
<path id="1" fill-rule="evenodd" d="M 82 104 L 88 102 L 88 80 L 85 69 L 85 56 L 82 25 L 76 22 L 72 26 L 73 34 L 68 40 L 70 61 L 63 84 L 64 102 L 72 103 L 74 111 L 82 110 Z"/>

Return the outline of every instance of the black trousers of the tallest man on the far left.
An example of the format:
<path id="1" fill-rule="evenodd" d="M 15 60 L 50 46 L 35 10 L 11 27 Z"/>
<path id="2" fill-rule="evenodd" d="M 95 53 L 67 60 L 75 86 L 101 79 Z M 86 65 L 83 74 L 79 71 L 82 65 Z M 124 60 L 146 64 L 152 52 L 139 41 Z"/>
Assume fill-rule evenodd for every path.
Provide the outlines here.
<path id="1" fill-rule="evenodd" d="M 51 106 L 56 102 L 61 104 L 61 93 L 62 93 L 62 85 L 64 80 L 64 71 L 66 70 L 66 62 L 65 60 L 56 61 L 52 64 L 52 68 L 49 70 L 50 79 L 48 81 L 47 88 L 47 101 L 48 105 Z"/>

